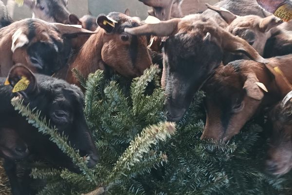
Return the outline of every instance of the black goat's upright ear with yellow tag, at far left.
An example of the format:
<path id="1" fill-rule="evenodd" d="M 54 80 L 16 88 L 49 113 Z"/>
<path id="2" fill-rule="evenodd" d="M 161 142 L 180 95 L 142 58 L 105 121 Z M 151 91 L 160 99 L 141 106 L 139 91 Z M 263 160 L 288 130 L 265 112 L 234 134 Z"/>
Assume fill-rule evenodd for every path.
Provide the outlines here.
<path id="1" fill-rule="evenodd" d="M 24 97 L 38 91 L 36 77 L 22 64 L 16 64 L 10 69 L 5 84 L 13 87 L 13 93 L 20 93 Z"/>

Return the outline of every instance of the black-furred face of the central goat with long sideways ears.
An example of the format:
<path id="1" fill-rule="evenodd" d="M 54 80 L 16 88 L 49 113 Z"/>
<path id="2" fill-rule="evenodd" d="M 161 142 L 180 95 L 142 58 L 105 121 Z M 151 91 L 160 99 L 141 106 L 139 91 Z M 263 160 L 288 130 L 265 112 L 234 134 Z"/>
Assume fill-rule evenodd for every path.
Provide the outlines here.
<path id="1" fill-rule="evenodd" d="M 223 58 L 221 47 L 203 37 L 190 39 L 189 34 L 179 33 L 169 37 L 164 45 L 164 67 L 166 68 L 165 109 L 168 120 L 183 117 L 195 93 L 213 74 Z"/>

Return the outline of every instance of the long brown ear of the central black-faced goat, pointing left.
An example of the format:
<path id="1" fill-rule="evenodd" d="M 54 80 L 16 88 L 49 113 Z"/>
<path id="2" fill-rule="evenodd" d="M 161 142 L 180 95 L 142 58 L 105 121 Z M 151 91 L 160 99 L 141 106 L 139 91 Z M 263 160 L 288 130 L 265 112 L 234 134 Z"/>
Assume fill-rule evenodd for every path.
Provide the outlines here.
<path id="1" fill-rule="evenodd" d="M 125 28 L 125 32 L 132 35 L 155 35 L 158 37 L 168 37 L 178 29 L 181 19 L 171 19 L 161 21 L 156 24 L 144 24 L 134 28 Z"/>

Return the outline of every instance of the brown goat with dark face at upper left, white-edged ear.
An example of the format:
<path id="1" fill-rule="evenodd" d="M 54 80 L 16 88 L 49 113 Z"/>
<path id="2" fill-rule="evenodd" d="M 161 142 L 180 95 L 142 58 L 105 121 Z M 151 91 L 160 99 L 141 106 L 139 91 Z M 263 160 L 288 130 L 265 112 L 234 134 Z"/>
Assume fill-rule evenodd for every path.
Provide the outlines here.
<path id="1" fill-rule="evenodd" d="M 6 77 L 15 63 L 22 63 L 36 73 L 52 75 L 70 56 L 70 38 L 93 33 L 38 19 L 14 22 L 0 29 L 0 76 Z"/>

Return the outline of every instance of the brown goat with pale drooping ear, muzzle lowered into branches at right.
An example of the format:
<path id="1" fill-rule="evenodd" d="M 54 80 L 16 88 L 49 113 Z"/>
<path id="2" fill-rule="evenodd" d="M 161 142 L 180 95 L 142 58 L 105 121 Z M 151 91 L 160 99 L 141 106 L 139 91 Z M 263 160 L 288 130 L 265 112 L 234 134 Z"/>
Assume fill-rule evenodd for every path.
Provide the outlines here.
<path id="1" fill-rule="evenodd" d="M 228 141 L 260 108 L 273 105 L 283 97 L 288 86 L 285 83 L 292 81 L 292 55 L 269 61 L 264 65 L 238 60 L 216 70 L 203 87 L 207 120 L 201 138 Z M 278 75 L 274 67 L 287 79 Z"/>

